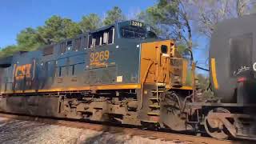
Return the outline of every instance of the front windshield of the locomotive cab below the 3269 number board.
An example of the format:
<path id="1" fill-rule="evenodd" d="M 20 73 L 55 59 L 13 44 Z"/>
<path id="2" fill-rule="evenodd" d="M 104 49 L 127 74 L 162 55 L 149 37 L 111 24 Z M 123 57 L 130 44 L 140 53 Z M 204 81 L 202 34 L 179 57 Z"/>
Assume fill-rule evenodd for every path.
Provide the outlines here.
<path id="1" fill-rule="evenodd" d="M 142 38 L 146 37 L 146 29 L 143 27 L 123 26 L 121 35 L 122 38 Z"/>

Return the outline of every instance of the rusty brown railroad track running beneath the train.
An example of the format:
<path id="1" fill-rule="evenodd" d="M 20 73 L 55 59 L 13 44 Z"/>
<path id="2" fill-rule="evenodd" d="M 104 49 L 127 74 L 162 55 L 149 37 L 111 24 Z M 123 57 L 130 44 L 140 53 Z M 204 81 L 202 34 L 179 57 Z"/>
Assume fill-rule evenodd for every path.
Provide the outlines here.
<path id="1" fill-rule="evenodd" d="M 230 141 L 230 140 L 218 140 L 215 138 L 206 138 L 206 137 L 199 137 L 193 135 L 185 135 L 185 134 L 171 134 L 166 132 L 159 132 L 159 131 L 152 131 L 152 130 L 141 130 L 138 128 L 127 128 L 127 127 L 119 127 L 119 126 L 106 126 L 102 124 L 94 124 L 94 123 L 87 123 L 87 122 L 74 122 L 74 121 L 67 121 L 67 120 L 59 120 L 59 119 L 52 119 L 52 118 L 38 118 L 38 117 L 31 117 L 31 116 L 24 116 L 24 115 L 15 115 L 15 114 L 2 114 L 0 113 L 0 117 L 2 118 L 11 118 L 11 119 L 18 119 L 18 120 L 26 120 L 26 121 L 36 121 L 36 122 L 43 122 L 46 124 L 51 125 L 60 125 L 60 126 L 69 126 L 74 128 L 80 129 L 89 129 L 89 130 L 97 130 L 97 131 L 104 131 L 111 134 L 130 134 L 131 136 L 141 136 L 144 138 L 150 139 L 161 139 L 163 141 L 168 142 L 176 142 L 176 143 L 191 143 L 191 144 L 234 144 L 234 143 L 250 143 L 249 141 Z"/>

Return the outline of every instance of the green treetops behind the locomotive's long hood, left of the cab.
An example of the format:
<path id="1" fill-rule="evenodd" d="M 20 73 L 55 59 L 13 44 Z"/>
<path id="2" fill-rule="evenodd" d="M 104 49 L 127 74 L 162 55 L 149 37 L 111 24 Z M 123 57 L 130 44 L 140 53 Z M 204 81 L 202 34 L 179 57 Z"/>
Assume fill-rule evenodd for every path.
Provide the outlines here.
<path id="1" fill-rule="evenodd" d="M 105 18 L 100 18 L 98 14 L 92 13 L 82 16 L 80 22 L 53 15 L 45 21 L 44 26 L 27 27 L 21 30 L 16 37 L 17 44 L 2 48 L 0 57 L 10 56 L 17 51 L 37 50 L 41 46 L 54 44 L 66 38 L 73 38 L 78 34 L 96 30 L 101 26 L 107 26 L 122 20 L 125 20 L 125 16 L 118 6 L 108 10 Z"/>

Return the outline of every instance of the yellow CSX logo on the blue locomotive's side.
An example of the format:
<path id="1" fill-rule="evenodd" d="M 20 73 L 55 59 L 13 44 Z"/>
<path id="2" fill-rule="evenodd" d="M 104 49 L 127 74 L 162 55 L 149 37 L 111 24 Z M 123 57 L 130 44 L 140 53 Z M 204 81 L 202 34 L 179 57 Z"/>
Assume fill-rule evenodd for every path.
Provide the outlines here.
<path id="1" fill-rule="evenodd" d="M 22 66 L 17 66 L 15 70 L 15 78 L 17 80 L 23 79 L 23 78 L 31 78 L 31 64 L 26 64 Z"/>

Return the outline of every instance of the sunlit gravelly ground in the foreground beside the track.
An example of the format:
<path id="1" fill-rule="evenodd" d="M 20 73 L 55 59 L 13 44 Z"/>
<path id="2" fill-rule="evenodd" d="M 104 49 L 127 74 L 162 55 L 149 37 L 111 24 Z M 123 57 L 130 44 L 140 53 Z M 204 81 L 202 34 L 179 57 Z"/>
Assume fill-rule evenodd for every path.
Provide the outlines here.
<path id="1" fill-rule="evenodd" d="M 110 134 L 40 122 L 0 118 L 0 143 L 7 144 L 174 144 L 160 139 L 142 138 L 129 134 Z M 177 142 L 175 142 L 177 143 Z M 182 143 L 182 142 L 178 142 Z"/>

